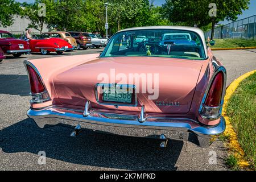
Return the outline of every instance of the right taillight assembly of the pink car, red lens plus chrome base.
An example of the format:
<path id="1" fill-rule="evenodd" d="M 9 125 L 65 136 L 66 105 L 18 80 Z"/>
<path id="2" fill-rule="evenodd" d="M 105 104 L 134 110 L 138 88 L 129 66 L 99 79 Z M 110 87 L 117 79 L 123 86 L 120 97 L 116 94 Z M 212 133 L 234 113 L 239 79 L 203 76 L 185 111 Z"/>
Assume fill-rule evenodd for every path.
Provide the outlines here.
<path id="1" fill-rule="evenodd" d="M 208 119 L 218 119 L 221 116 L 222 93 L 224 89 L 224 73 L 218 72 L 213 78 L 207 97 L 202 104 L 201 115 Z"/>

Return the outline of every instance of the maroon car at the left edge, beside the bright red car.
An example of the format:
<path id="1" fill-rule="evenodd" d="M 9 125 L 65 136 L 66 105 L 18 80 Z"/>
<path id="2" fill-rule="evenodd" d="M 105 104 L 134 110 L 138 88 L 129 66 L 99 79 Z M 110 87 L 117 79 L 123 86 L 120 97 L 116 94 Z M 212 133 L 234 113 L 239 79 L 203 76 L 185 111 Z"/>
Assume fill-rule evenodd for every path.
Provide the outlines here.
<path id="1" fill-rule="evenodd" d="M 0 47 L 6 55 L 19 57 L 30 52 L 28 42 L 16 39 L 10 32 L 0 30 Z"/>

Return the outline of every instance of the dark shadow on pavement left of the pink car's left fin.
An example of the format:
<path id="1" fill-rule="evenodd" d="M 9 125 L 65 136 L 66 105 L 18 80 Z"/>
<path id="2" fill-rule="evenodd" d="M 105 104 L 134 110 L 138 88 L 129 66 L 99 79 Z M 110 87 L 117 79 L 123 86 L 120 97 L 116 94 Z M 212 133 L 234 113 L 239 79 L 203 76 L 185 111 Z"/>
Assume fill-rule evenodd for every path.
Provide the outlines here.
<path id="1" fill-rule="evenodd" d="M 0 75 L 0 94 L 29 96 L 30 85 L 27 75 Z"/>

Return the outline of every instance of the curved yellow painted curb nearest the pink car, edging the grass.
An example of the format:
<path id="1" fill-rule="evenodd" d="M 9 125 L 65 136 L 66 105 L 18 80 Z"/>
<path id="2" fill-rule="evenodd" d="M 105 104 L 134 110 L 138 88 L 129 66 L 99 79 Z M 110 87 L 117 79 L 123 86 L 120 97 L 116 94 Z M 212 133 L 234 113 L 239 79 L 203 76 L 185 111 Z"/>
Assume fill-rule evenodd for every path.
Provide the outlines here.
<path id="1" fill-rule="evenodd" d="M 250 166 L 250 164 L 249 164 L 249 162 L 247 162 L 247 160 L 245 160 L 245 152 L 243 152 L 243 149 L 237 140 L 237 134 L 234 131 L 233 126 L 230 123 L 229 117 L 226 115 L 226 106 L 228 104 L 230 97 L 236 91 L 240 82 L 243 81 L 245 78 L 249 77 L 250 75 L 253 75 L 253 73 L 255 73 L 255 72 L 256 72 L 256 70 L 245 73 L 245 75 L 240 76 L 239 78 L 234 80 L 232 82 L 232 84 L 229 85 L 228 89 L 226 89 L 226 96 L 224 98 L 224 106 L 223 106 L 223 110 L 222 110 L 222 115 L 226 119 L 226 130 L 225 130 L 224 135 L 225 134 L 229 135 L 229 139 L 230 139 L 229 140 L 229 148 L 230 148 L 230 150 L 235 151 L 235 155 L 238 158 L 238 165 L 241 168 L 246 168 L 246 167 Z"/>

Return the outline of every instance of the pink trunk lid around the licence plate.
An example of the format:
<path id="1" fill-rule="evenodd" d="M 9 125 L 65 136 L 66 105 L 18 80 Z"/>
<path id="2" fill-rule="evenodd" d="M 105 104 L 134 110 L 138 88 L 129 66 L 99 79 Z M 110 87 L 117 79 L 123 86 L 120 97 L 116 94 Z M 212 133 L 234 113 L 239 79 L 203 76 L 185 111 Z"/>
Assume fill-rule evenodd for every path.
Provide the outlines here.
<path id="1" fill-rule="evenodd" d="M 53 84 L 58 97 L 55 104 L 84 107 L 86 100 L 90 100 L 92 107 L 100 109 L 140 111 L 144 105 L 148 113 L 185 114 L 191 107 L 201 67 L 201 61 L 164 57 L 99 58 L 55 76 Z M 139 82 L 131 74 L 139 76 Z M 137 106 L 117 109 L 97 102 L 96 84 L 129 84 L 131 80 L 139 91 Z"/>

